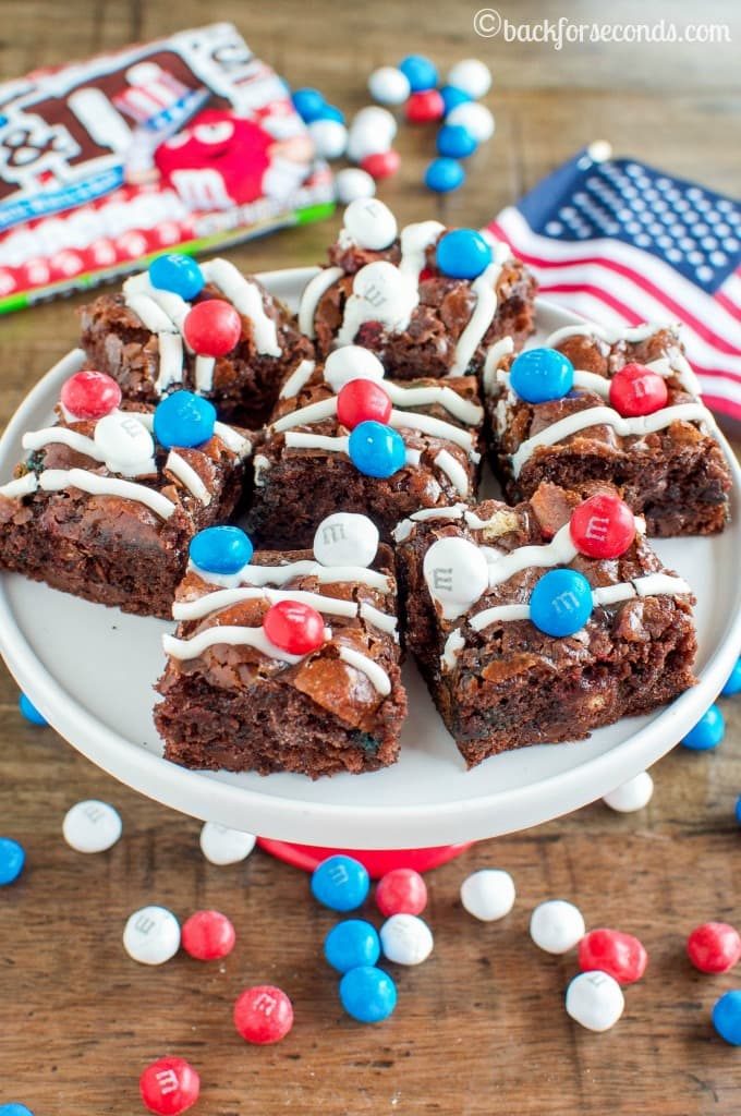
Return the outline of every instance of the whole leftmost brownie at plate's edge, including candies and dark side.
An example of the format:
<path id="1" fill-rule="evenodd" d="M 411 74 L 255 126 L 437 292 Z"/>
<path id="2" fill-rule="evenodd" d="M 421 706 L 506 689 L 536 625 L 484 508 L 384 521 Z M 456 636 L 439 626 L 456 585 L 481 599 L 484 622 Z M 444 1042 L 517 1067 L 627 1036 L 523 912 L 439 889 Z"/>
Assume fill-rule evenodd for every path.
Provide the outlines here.
<path id="1" fill-rule="evenodd" d="M 235 509 L 251 444 L 187 392 L 156 411 L 123 412 L 119 401 L 105 374 L 77 373 L 54 425 L 23 435 L 28 456 L 0 487 L 0 567 L 170 617 L 190 540 Z M 194 414 L 173 414 L 189 402 Z M 201 423 L 199 407 L 211 412 Z"/>

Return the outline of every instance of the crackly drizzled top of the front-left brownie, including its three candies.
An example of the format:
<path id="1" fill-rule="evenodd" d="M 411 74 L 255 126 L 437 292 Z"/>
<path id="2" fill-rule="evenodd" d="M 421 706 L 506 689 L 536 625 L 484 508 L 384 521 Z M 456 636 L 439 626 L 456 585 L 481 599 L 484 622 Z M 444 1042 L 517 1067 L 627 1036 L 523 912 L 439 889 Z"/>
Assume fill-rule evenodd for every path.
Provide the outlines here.
<path id="1" fill-rule="evenodd" d="M 398 685 L 393 568 L 365 516 L 328 517 L 312 550 L 252 555 L 237 528 L 208 529 L 176 593 L 176 636 L 164 637 L 171 668 L 221 689 L 280 682 L 369 730 Z"/>

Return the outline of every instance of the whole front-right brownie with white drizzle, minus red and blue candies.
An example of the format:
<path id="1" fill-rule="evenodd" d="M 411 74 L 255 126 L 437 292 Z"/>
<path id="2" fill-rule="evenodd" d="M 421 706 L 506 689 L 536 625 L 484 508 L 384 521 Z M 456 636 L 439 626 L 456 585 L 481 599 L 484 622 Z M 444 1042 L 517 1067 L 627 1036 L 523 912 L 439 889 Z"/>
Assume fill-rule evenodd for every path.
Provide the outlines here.
<path id="1" fill-rule="evenodd" d="M 593 485 L 589 499 L 598 494 Z M 513 508 L 460 503 L 396 529 L 406 642 L 469 767 L 526 744 L 587 737 L 655 710 L 695 681 L 690 587 L 664 569 L 641 520 L 619 557 L 580 554 L 570 531 L 581 503 L 578 493 L 543 483 Z M 518 560 L 523 547 L 540 549 Z M 530 618 L 533 588 L 550 567 L 591 586 L 591 615 L 570 635 L 548 635 Z M 468 599 L 451 605 L 451 587 Z M 477 620 L 502 605 L 520 607 Z"/>

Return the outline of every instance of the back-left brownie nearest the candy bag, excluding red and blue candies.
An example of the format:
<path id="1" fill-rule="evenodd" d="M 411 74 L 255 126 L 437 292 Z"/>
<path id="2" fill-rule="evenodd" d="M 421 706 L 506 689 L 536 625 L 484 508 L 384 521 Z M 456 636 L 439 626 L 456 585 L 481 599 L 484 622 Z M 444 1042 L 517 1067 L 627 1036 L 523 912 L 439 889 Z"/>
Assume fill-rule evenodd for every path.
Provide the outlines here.
<path id="1" fill-rule="evenodd" d="M 81 341 L 92 366 L 118 382 L 124 398 L 155 405 L 177 387 L 204 395 L 224 422 L 261 426 L 286 375 L 314 355 L 288 309 L 253 277 L 228 260 L 201 264 L 205 287 L 193 302 L 156 290 L 147 272 L 132 276 L 122 294 L 100 295 L 81 310 Z M 231 301 L 242 331 L 215 363 L 198 358 L 182 339 L 184 316 L 210 298 Z M 160 328 L 157 328 L 160 327 Z"/>

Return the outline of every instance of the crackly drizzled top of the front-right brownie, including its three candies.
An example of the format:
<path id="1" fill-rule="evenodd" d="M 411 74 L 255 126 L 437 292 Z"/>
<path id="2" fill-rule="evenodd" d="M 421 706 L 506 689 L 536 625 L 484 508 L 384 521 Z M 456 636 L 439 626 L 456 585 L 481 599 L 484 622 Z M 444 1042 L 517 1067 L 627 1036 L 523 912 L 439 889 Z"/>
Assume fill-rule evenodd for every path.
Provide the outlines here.
<path id="1" fill-rule="evenodd" d="M 612 641 L 645 644 L 677 608 L 689 613 L 689 585 L 665 570 L 643 531 L 609 485 L 595 483 L 583 500 L 543 483 L 514 508 L 487 500 L 420 511 L 395 538 L 422 564 L 414 591 L 434 606 L 443 673 L 485 647 L 495 662 L 484 676 L 499 681 L 511 656 L 555 666 L 598 658 Z"/>

